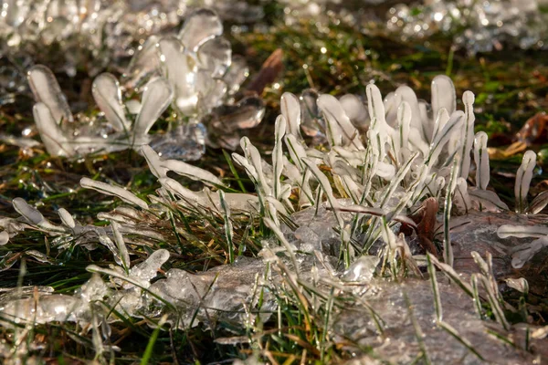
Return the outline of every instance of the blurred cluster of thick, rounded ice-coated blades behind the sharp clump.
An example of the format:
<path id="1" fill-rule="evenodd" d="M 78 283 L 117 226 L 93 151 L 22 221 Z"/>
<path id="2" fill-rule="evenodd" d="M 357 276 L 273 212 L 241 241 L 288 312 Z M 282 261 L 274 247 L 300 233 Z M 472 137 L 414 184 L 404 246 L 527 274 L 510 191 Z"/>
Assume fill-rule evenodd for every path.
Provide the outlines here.
<path id="1" fill-rule="evenodd" d="M 257 95 L 236 97 L 248 67 L 242 57 L 232 56 L 222 35 L 216 13 L 197 9 L 178 36 L 150 36 L 122 75 L 122 85 L 110 73 L 94 79 L 92 94 L 100 112 L 92 115 L 73 116 L 49 68 L 31 68 L 27 78 L 37 101 L 34 117 L 47 151 L 73 158 L 151 144 L 165 157 L 197 160 L 205 141 L 229 149 L 237 145 L 238 130 L 255 127 L 264 105 Z M 136 93 L 141 101 L 133 99 Z M 170 105 L 170 130 L 150 134 Z M 213 130 L 223 130 L 222 136 Z"/>

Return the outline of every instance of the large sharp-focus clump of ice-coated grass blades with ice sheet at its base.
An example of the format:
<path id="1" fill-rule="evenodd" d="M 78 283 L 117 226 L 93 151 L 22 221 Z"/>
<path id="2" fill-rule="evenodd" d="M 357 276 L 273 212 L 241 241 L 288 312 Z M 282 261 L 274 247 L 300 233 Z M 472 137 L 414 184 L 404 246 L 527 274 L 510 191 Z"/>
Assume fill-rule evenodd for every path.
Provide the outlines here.
<path id="1" fill-rule="evenodd" d="M 112 313 L 117 312 L 163 318 L 162 323 L 167 320 L 177 328 L 194 326 L 198 320 L 215 326 L 217 320 L 224 320 L 258 330 L 253 324 L 281 316 L 276 308 L 289 301 L 321 318 L 321 327 L 331 331 L 333 341 L 352 339 L 349 349 L 371 347 L 382 359 L 406 363 L 418 352 L 427 361 L 465 356 L 470 356 L 471 363 L 531 360 L 532 355 L 517 349 L 515 343 L 510 348 L 498 340 L 511 341 L 507 335 L 518 328 L 512 328 L 506 318 L 505 311 L 516 309 L 504 302 L 495 276 L 506 278 L 511 265 L 527 264 L 545 246 L 545 227 L 531 224 L 548 200 L 539 194 L 527 203 L 534 153 L 528 151 L 523 157 L 515 185 L 518 214 L 509 214 L 508 206 L 488 190 L 487 136 L 473 134 L 471 92 L 463 95 L 464 110 L 457 110 L 455 89 L 445 76 L 432 82 L 431 108 L 405 86 L 385 99 L 374 85 L 367 86 L 366 94 L 366 105 L 354 97 L 340 101 L 327 94 L 312 100 L 312 105 L 310 99 L 284 94 L 271 163 L 248 138 L 240 141 L 243 154 L 232 154 L 254 184 L 255 193 L 234 193 L 213 173 L 163 159 L 143 146 L 142 154 L 161 184 L 148 196 L 150 203 L 120 187 L 84 178 L 82 187 L 115 195 L 132 207 L 101 214 L 111 226 L 94 228 L 82 227 L 65 211 L 59 211 L 63 224 L 51 224 L 16 199 L 14 206 L 22 218 L 0 221 L 5 229 L 3 243 L 9 245 L 11 237 L 30 227 L 56 235 L 61 249 L 63 243 L 72 242 L 105 245 L 111 250 L 116 265 L 88 267 L 108 277 L 108 284 L 94 276 L 93 284 L 88 284 L 88 288 L 97 287 L 94 297 L 81 299 L 90 297 L 82 289 L 77 299 L 70 299 L 87 300 L 87 307 L 81 306 L 79 314 L 68 316 L 70 320 L 85 322 L 90 313 L 100 313 L 82 308 L 95 306 L 101 297 L 99 302 L 109 316 L 100 318 L 104 321 L 116 320 Z M 311 118 L 310 110 L 315 108 L 321 113 Z M 356 126 L 367 131 L 362 134 Z M 301 129 L 324 136 L 327 145 L 310 148 Z M 470 186 L 472 158 L 475 178 L 470 178 L 474 182 Z M 189 190 L 168 172 L 205 187 Z M 440 224 L 438 206 L 443 206 Z M 510 222 L 524 223 L 504 226 Z M 171 234 L 166 234 L 170 231 L 166 223 Z M 199 241 L 193 224 L 216 232 L 227 264 L 197 274 L 171 268 L 165 277 L 156 278 L 170 251 L 181 253 L 181 247 L 169 245 L 170 241 Z M 463 225 L 466 232 L 459 231 Z M 143 226 L 155 234 L 137 232 Z M 525 244 L 501 241 L 497 229 L 501 237 L 538 239 Z M 256 232 L 256 246 L 250 245 L 250 231 Z M 132 266 L 131 255 L 139 244 L 127 242 L 127 237 L 136 235 L 149 245 L 158 240 L 168 245 Z M 458 255 L 454 255 L 454 246 Z M 476 252 L 480 249 L 487 251 L 484 258 Z M 492 253 L 497 253 L 497 260 L 493 261 Z M 477 267 L 462 265 L 470 261 L 470 255 Z M 435 266 L 451 285 L 438 285 Z M 426 267 L 430 283 L 421 280 Z M 527 290 L 525 279 L 511 283 Z M 392 297 L 394 307 L 383 305 L 379 293 Z M 44 293 L 49 300 L 56 298 L 58 305 L 54 296 Z M 473 301 L 465 300 L 468 297 Z M 59 320 L 47 314 L 45 307 L 41 308 L 44 317 L 38 320 L 25 309 L 32 307 L 34 299 L 20 300 L 25 302 L 16 306 L 3 302 L 4 315 L 38 323 Z M 450 307 L 443 318 L 442 307 Z M 346 315 L 349 308 L 364 320 L 356 322 L 356 317 Z M 490 330 L 498 339 L 487 336 L 480 321 L 485 318 L 497 322 L 490 324 Z M 431 326 L 432 320 L 436 327 Z M 427 328 L 428 336 L 421 327 Z M 386 328 L 400 328 L 401 337 L 379 341 L 377 337 Z M 447 344 L 443 349 L 437 346 L 440 339 Z M 237 343 L 237 339 L 227 343 Z M 413 346 L 401 351 L 398 343 Z"/>

